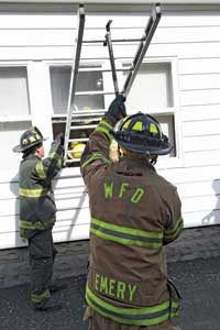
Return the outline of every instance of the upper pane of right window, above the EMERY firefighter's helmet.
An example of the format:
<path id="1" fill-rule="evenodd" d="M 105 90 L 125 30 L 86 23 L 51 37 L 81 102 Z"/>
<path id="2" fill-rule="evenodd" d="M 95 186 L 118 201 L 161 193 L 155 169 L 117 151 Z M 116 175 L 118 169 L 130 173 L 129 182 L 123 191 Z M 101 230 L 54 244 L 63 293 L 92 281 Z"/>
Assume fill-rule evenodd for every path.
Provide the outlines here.
<path id="1" fill-rule="evenodd" d="M 170 64 L 142 64 L 127 100 L 129 113 L 168 107 L 173 107 Z"/>

